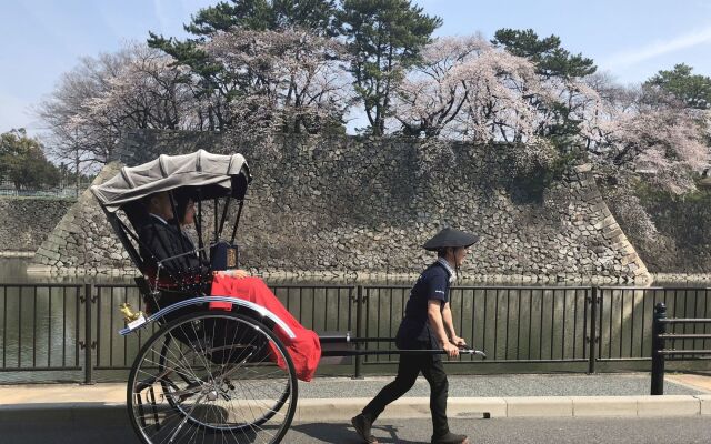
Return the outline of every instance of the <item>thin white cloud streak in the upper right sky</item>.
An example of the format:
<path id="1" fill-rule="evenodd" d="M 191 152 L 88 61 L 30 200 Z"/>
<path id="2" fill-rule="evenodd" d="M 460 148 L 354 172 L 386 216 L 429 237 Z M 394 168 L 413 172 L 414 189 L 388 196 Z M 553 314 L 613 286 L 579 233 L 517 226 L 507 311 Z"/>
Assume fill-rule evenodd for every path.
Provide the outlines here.
<path id="1" fill-rule="evenodd" d="M 605 69 L 620 69 L 631 67 L 657 57 L 681 51 L 687 48 L 711 42 L 711 27 L 672 38 L 671 40 L 655 41 L 651 44 L 628 49 L 612 54 L 600 64 Z"/>

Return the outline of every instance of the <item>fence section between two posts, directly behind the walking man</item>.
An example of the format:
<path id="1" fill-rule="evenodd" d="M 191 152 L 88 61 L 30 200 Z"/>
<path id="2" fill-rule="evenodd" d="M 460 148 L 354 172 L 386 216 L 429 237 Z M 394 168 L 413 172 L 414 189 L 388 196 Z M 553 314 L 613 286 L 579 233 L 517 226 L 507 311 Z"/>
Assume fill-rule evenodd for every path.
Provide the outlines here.
<path id="1" fill-rule="evenodd" d="M 365 286 L 365 336 L 394 336 L 409 286 Z M 460 334 L 487 351 L 487 364 L 587 363 L 591 287 L 459 286 L 450 294 Z M 377 344 L 374 347 L 388 347 Z M 397 355 L 365 357 L 393 362 Z M 472 361 L 473 356 L 460 362 Z M 579 365 L 578 365 L 579 366 Z M 572 369 L 571 369 L 572 370 Z"/>

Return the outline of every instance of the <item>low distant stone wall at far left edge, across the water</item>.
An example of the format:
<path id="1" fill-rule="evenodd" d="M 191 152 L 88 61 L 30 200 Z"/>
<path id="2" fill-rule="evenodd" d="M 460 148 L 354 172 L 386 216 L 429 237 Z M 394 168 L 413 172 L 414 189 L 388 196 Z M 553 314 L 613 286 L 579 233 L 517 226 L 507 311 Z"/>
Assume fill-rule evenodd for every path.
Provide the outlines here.
<path id="1" fill-rule="evenodd" d="M 0 198 L 0 255 L 34 252 L 73 200 L 51 198 Z"/>

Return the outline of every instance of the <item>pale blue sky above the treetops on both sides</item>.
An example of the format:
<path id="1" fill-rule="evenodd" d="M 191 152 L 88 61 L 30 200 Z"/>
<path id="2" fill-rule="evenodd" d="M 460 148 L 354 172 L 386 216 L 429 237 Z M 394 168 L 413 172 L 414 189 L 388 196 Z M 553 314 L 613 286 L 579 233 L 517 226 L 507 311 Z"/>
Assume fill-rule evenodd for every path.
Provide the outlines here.
<path id="1" fill-rule="evenodd" d="M 444 24 L 437 36 L 532 28 L 594 59 L 621 83 L 684 62 L 711 75 L 711 0 L 417 0 Z M 41 123 L 32 107 L 81 57 L 144 40 L 184 37 L 182 23 L 217 0 L 0 0 L 0 132 Z"/>

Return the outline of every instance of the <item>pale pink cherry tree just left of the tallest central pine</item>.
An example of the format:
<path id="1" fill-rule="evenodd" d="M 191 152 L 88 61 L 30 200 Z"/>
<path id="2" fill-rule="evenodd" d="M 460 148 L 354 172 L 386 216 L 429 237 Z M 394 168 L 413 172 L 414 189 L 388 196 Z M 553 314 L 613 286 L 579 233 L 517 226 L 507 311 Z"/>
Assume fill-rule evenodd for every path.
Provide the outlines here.
<path id="1" fill-rule="evenodd" d="M 353 94 L 336 40 L 297 28 L 232 28 L 202 49 L 243 85 L 230 101 L 233 131 L 320 133 L 342 127 Z"/>

